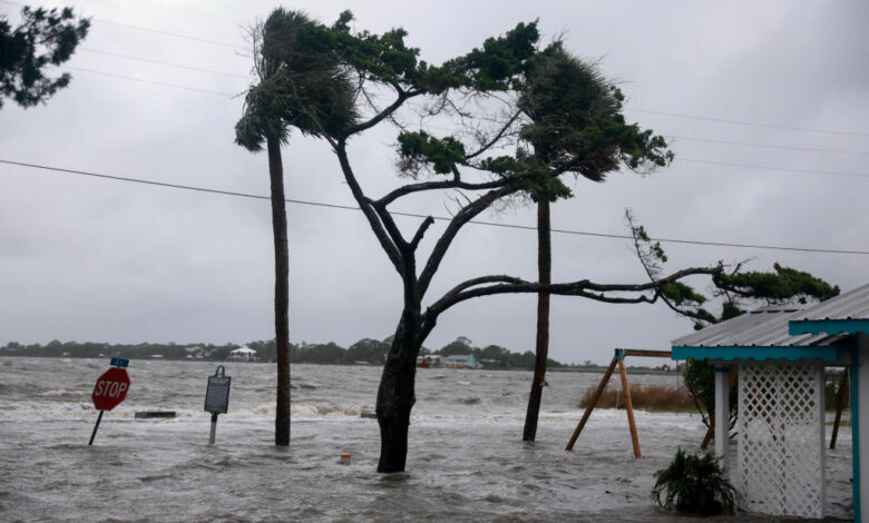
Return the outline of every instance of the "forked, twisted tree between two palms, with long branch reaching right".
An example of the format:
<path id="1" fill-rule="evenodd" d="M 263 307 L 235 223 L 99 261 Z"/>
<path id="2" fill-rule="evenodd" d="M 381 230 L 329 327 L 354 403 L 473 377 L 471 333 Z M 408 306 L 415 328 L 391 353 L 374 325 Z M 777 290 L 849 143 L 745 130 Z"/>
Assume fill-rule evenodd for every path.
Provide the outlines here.
<path id="1" fill-rule="evenodd" d="M 531 62 L 540 53 L 536 23 L 519 23 L 501 37 L 487 39 L 480 48 L 441 66 L 430 66 L 418 60 L 418 49 L 404 45 L 407 33 L 402 29 L 383 34 L 352 33 L 351 19 L 346 11 L 331 28 L 320 28 L 326 34 L 323 52 L 339 57 L 341 70 L 353 76 L 365 116 L 355 124 L 335 127 L 331 112 L 302 110 L 312 125 L 307 132 L 325 139 L 335 152 L 351 194 L 401 282 L 403 307 L 377 397 L 381 438 L 378 471 L 399 472 L 407 462 L 410 414 L 416 402 L 416 359 L 443 312 L 468 299 L 515 293 L 582 296 L 605 303 L 654 303 L 662 285 L 690 275 L 714 275 L 722 267 L 719 264 L 686 268 L 641 284 L 598 284 L 587 279 L 540 284 L 509 275 L 484 275 L 427 299 L 441 263 L 465 225 L 512 197 L 547 187 L 560 195 L 557 177 L 578 171 L 578 162 L 584 160 L 558 156 L 544 164 L 523 147 L 516 147 L 523 127 L 529 124 L 518 98 Z M 407 111 L 422 122 L 417 130 L 401 122 Z M 453 122 L 455 132 L 441 138 L 429 134 L 426 124 L 430 118 L 438 119 L 438 125 L 442 120 Z M 282 121 L 296 125 L 291 119 Z M 299 121 L 309 120 L 300 116 Z M 375 198 L 365 193 L 353 169 L 350 144 L 357 135 L 383 124 L 397 124 L 401 129 L 397 166 L 409 181 Z M 638 146 L 656 147 L 657 138 L 648 131 L 633 136 Z M 455 199 L 458 209 L 452 219 L 433 240 L 428 256 L 422 256 L 418 250 L 433 218 L 423 219 L 406 236 L 390 206 L 404 197 L 430 191 L 458 191 L 463 199 Z"/>

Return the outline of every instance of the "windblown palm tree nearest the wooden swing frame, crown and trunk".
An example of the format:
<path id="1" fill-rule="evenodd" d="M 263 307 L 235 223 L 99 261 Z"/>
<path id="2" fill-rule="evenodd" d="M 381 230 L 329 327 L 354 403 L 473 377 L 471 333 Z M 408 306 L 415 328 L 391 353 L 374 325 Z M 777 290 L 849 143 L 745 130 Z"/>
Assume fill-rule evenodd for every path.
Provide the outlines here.
<path id="1" fill-rule="evenodd" d="M 549 205 L 570 197 L 560 175 L 602 182 L 607 172 L 625 166 L 651 171 L 673 154 L 651 130 L 629 125 L 622 115 L 623 96 L 598 68 L 572 56 L 556 41 L 544 49 L 526 73 L 518 107 L 527 122 L 520 139 L 529 161 L 549 171 L 547 184 L 530 191 L 537 203 L 538 283 L 551 282 Z M 536 361 L 523 440 L 535 441 L 549 352 L 549 295 L 537 298 Z"/>

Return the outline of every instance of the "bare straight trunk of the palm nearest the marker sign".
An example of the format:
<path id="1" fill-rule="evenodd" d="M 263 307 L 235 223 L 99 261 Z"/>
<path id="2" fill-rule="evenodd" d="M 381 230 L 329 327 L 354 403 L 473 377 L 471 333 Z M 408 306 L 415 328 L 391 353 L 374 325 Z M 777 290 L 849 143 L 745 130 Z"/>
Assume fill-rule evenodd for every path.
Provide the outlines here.
<path id="1" fill-rule="evenodd" d="M 277 407 L 274 444 L 290 444 L 290 247 L 286 237 L 286 199 L 281 141 L 267 138 L 268 178 L 272 182 L 274 236 L 274 334 L 277 353 Z"/>

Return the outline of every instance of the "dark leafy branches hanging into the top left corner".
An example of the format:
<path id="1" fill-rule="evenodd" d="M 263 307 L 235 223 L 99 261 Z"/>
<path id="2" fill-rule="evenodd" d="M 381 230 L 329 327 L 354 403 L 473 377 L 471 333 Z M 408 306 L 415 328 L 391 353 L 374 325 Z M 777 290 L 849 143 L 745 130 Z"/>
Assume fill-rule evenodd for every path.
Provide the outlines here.
<path id="1" fill-rule="evenodd" d="M 11 99 L 21 107 L 45 103 L 71 76 L 47 73 L 75 52 L 88 33 L 90 20 L 77 18 L 72 8 L 21 9 L 21 24 L 12 28 L 0 17 L 0 107 Z"/>

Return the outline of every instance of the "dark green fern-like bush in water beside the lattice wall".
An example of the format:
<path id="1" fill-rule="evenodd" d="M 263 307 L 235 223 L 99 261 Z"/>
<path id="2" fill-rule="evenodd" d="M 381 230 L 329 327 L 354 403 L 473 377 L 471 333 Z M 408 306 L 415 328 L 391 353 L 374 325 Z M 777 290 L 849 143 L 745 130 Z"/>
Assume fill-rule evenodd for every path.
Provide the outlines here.
<path id="1" fill-rule="evenodd" d="M 686 454 L 682 448 L 670 466 L 655 473 L 652 499 L 665 509 L 675 506 L 695 514 L 733 512 L 735 506 L 735 491 L 717 460 L 711 454 Z"/>

